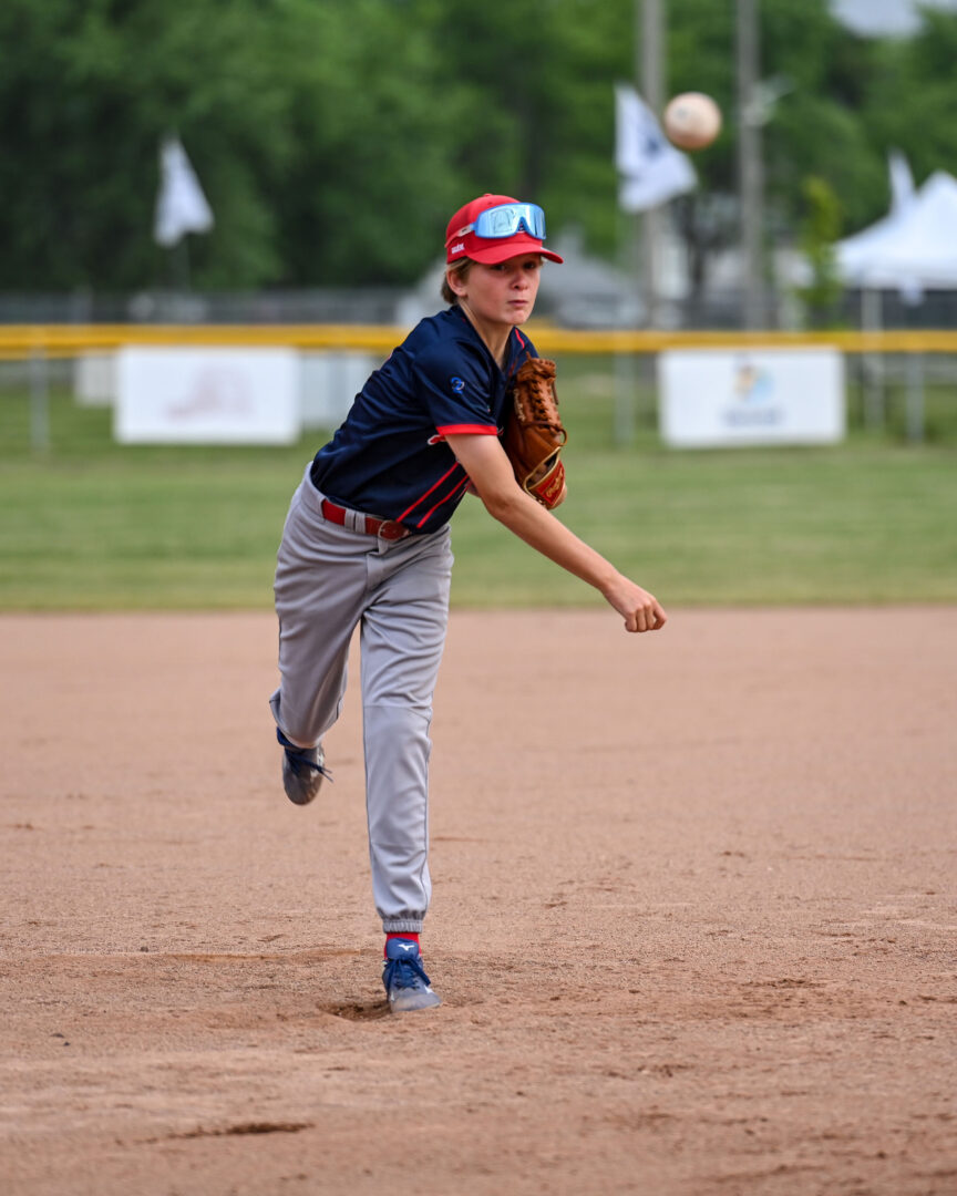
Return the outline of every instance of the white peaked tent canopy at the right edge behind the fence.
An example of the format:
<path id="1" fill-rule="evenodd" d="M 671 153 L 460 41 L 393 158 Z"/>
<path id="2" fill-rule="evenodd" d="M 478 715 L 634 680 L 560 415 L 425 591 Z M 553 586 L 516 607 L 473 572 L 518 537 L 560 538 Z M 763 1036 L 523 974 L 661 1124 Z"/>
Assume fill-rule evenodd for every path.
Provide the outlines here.
<path id="1" fill-rule="evenodd" d="M 835 248 L 848 286 L 957 289 L 957 179 L 935 171 L 906 206 Z"/>

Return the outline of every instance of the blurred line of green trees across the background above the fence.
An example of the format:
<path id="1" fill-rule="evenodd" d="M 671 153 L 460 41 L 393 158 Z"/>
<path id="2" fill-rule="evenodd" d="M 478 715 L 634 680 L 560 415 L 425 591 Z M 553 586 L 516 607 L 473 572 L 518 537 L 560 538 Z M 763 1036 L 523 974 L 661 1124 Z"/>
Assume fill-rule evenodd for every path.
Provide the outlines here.
<path id="1" fill-rule="evenodd" d="M 701 285 L 737 239 L 733 5 L 666 11 L 669 91 L 725 114 L 676 208 Z M 798 237 L 809 176 L 854 231 L 886 210 L 888 148 L 919 173 L 957 160 L 957 16 L 896 42 L 854 36 L 827 0 L 762 0 L 761 18 L 773 239 Z M 215 215 L 190 239 L 197 287 L 408 283 L 482 190 L 610 255 L 612 85 L 634 61 L 634 0 L 4 0 L 0 288 L 172 281 L 152 238 L 169 132 Z"/>

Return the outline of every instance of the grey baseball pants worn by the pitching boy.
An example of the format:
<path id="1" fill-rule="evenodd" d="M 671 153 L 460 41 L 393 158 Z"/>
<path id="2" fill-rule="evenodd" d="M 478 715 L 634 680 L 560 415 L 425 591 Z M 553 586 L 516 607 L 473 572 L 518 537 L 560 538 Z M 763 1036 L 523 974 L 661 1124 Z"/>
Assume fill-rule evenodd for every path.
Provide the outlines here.
<path id="1" fill-rule="evenodd" d="M 420 930 L 432 895 L 428 732 L 449 623 L 449 527 L 386 541 L 329 523 L 322 499 L 306 469 L 276 559 L 281 681 L 269 703 L 287 739 L 315 748 L 342 710 L 359 626 L 376 910 L 386 932 Z"/>

